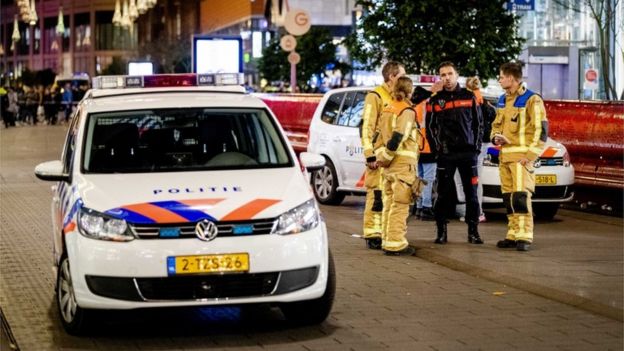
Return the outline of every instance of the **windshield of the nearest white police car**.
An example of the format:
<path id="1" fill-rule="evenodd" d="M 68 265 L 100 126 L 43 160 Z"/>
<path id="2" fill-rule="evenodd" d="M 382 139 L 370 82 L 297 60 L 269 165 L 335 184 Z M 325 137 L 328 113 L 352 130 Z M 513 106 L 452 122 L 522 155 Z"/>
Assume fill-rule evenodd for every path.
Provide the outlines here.
<path id="1" fill-rule="evenodd" d="M 93 113 L 85 173 L 287 167 L 284 140 L 263 109 L 176 108 Z"/>

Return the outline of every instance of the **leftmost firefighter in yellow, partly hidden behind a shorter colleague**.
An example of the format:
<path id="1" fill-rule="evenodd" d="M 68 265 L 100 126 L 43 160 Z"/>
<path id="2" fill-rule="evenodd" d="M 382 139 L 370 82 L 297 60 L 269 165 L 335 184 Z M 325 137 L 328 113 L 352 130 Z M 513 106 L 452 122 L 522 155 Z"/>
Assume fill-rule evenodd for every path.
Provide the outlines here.
<path id="1" fill-rule="evenodd" d="M 366 187 L 366 204 L 364 206 L 363 236 L 370 249 L 381 249 L 382 212 L 383 212 L 383 179 L 382 169 L 377 164 L 375 149 L 380 146 L 378 122 L 382 110 L 391 101 L 390 93 L 399 77 L 405 75 L 402 64 L 390 61 L 381 70 L 384 83 L 370 91 L 364 100 L 362 116 L 362 147 L 366 158 L 364 185 Z"/>

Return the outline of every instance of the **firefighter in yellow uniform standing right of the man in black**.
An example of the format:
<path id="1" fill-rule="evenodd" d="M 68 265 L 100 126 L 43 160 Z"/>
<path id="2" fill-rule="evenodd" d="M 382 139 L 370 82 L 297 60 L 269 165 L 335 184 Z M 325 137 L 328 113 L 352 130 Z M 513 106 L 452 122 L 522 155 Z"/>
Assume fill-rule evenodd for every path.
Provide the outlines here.
<path id="1" fill-rule="evenodd" d="M 496 246 L 528 251 L 533 242 L 533 163 L 544 149 L 548 120 L 542 98 L 522 86 L 521 64 L 503 64 L 498 81 L 505 94 L 498 100 L 490 137 L 501 146 L 501 190 L 509 222 L 505 239 Z"/>

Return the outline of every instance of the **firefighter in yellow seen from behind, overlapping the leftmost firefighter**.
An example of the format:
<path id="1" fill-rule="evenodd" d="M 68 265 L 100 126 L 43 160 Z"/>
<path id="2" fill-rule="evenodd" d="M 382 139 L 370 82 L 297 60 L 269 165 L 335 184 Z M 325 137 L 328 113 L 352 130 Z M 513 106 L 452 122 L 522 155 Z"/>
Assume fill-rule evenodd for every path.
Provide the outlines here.
<path id="1" fill-rule="evenodd" d="M 392 91 L 393 101 L 384 109 L 380 121 L 383 146 L 376 155 L 378 163 L 385 167 L 382 249 L 387 255 L 414 254 L 405 238 L 418 164 L 418 124 L 409 100 L 412 91 L 412 80 L 399 78 Z"/>

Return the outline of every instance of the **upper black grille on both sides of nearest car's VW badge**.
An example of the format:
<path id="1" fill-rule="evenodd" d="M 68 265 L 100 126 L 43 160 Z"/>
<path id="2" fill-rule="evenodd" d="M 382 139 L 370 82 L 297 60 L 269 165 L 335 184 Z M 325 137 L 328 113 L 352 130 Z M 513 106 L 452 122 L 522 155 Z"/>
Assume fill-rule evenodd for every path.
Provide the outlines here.
<path id="1" fill-rule="evenodd" d="M 227 236 L 245 236 L 245 235 L 262 235 L 271 234 L 275 218 L 259 219 L 251 221 L 230 221 L 216 222 L 219 232 L 218 237 Z M 141 239 L 179 239 L 179 238 L 195 238 L 196 222 L 189 223 L 173 223 L 173 224 L 141 224 L 130 225 L 137 237 Z M 179 229 L 177 236 L 162 236 L 161 229 Z M 244 232 L 240 229 L 245 229 Z"/>

